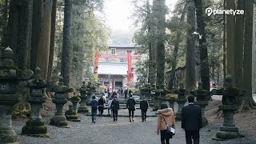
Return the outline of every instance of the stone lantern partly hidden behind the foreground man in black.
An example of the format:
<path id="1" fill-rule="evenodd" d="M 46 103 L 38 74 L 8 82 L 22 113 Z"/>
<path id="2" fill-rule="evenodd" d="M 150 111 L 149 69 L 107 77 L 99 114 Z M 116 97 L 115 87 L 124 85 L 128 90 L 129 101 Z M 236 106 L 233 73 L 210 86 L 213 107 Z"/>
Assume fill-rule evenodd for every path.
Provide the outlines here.
<path id="1" fill-rule="evenodd" d="M 191 93 L 197 98 L 197 101 L 194 102 L 194 104 L 201 106 L 202 126 L 206 126 L 208 124 L 208 121 L 205 116 L 205 108 L 210 100 L 210 92 L 207 90 L 202 90 L 202 82 L 198 82 L 198 90 L 194 90 Z"/>

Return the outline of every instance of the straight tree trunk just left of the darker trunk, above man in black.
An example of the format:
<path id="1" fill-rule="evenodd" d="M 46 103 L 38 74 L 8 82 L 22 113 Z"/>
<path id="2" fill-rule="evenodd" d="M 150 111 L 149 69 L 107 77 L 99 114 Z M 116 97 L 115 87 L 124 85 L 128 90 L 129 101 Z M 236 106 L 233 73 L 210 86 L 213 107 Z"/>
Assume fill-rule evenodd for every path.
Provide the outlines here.
<path id="1" fill-rule="evenodd" d="M 195 36 L 192 35 L 195 31 L 195 6 L 194 2 L 188 2 L 187 7 L 187 23 L 186 30 L 186 90 L 194 90 L 195 88 Z M 196 35 L 198 38 L 198 35 Z"/>

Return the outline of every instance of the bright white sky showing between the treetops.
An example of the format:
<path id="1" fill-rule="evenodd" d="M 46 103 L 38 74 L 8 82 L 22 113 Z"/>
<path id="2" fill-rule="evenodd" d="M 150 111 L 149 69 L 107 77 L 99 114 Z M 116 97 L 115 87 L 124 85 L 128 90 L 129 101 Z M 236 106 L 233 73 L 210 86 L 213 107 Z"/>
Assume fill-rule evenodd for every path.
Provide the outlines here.
<path id="1" fill-rule="evenodd" d="M 105 13 L 107 26 L 110 26 L 111 30 L 132 32 L 133 19 L 129 18 L 132 13 L 133 6 L 130 4 L 132 0 L 106 0 L 105 1 Z M 166 0 L 167 6 L 172 6 L 178 0 Z"/>

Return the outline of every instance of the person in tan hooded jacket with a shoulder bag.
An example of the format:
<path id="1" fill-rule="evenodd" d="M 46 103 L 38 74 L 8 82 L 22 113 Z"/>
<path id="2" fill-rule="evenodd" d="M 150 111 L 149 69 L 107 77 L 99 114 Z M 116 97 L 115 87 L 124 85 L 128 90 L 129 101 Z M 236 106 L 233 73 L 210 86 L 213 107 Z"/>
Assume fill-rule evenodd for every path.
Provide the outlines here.
<path id="1" fill-rule="evenodd" d="M 170 138 L 172 138 L 172 136 L 167 134 L 167 125 L 172 126 L 175 129 L 174 110 L 172 108 L 168 108 L 166 103 L 162 103 L 160 110 L 158 110 L 157 113 L 157 134 L 160 134 L 161 144 L 170 144 Z"/>

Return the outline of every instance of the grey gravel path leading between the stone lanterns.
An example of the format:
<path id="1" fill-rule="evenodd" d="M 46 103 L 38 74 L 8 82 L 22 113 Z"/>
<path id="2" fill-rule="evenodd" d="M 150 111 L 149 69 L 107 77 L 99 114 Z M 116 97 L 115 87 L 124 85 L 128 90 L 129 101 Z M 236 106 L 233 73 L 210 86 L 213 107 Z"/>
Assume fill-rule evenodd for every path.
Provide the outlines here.
<path id="1" fill-rule="evenodd" d="M 34 143 L 62 143 L 62 144 L 158 144 L 160 136 L 155 132 L 157 118 L 151 117 L 147 122 L 141 122 L 140 118 L 135 118 L 134 122 L 129 122 L 128 118 L 118 118 L 118 122 L 113 122 L 112 118 L 98 117 L 96 124 L 91 123 L 90 116 L 80 114 L 82 122 L 69 122 L 71 128 L 58 128 L 49 126 L 50 138 L 33 138 L 21 135 L 22 126 L 14 126 L 18 134 L 18 141 L 21 144 Z M 176 134 L 170 143 L 185 144 L 185 133 L 180 128 L 180 122 L 176 125 Z M 219 123 L 210 125 L 201 130 L 201 144 L 254 144 L 254 135 L 247 135 L 245 138 L 235 138 L 229 141 L 217 142 L 212 140 L 218 131 Z M 243 133 L 243 131 L 241 131 Z"/>

